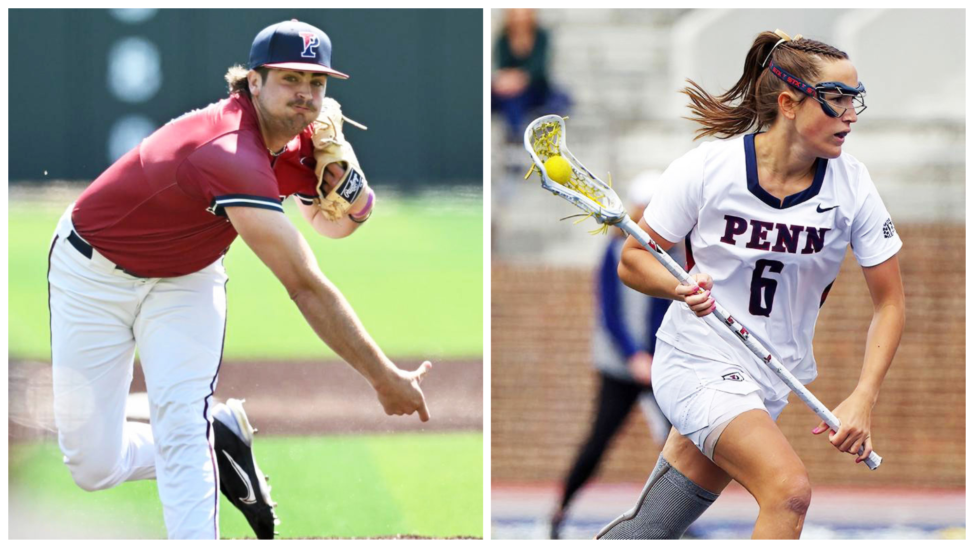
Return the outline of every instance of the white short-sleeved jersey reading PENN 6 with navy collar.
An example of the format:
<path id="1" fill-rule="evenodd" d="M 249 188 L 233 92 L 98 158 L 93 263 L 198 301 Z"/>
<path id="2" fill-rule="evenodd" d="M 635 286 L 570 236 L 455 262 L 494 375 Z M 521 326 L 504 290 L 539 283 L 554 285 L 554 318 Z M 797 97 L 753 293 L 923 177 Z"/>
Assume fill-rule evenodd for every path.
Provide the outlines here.
<path id="1" fill-rule="evenodd" d="M 758 184 L 754 135 L 704 142 L 670 164 L 645 218 L 666 240 L 686 239 L 688 272 L 712 276 L 713 297 L 803 383 L 816 375 L 815 321 L 846 247 L 874 266 L 903 245 L 858 160 L 819 158 L 811 186 L 782 203 Z M 697 372 L 703 385 L 736 391 L 723 381 L 738 380 L 739 366 L 767 395 L 789 391 L 736 335 L 714 334 L 683 302 L 656 336 L 716 362 Z M 739 384 L 746 393 L 749 383 Z"/>

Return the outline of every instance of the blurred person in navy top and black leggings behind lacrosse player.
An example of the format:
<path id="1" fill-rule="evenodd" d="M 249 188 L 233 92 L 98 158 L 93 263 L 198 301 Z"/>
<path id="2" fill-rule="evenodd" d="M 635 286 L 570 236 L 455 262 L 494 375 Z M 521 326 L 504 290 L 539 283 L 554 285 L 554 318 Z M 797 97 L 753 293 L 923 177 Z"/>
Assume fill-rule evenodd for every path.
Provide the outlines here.
<path id="1" fill-rule="evenodd" d="M 661 174 L 645 172 L 629 188 L 628 211 L 636 220 L 653 197 Z M 562 491 L 561 503 L 551 516 L 551 538 L 559 538 L 568 507 L 576 492 L 591 478 L 609 442 L 638 401 L 650 425 L 656 444 L 662 447 L 670 423 L 656 405 L 650 370 L 656 348 L 656 329 L 670 300 L 631 290 L 618 279 L 617 268 L 625 233 L 613 228 L 596 278 L 597 312 L 592 337 L 592 357 L 600 388 L 591 432 L 581 444 L 579 455 Z M 685 262 L 678 246 L 670 251 L 677 262 Z M 648 457 L 649 458 L 649 457 Z"/>

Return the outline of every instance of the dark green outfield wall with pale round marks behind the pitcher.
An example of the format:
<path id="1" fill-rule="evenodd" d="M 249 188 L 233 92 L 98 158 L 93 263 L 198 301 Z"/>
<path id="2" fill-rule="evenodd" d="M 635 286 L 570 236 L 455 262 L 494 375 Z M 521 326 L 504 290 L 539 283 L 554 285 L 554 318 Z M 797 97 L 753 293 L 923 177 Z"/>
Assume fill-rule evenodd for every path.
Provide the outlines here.
<path id="1" fill-rule="evenodd" d="M 158 127 L 225 97 L 223 74 L 246 63 L 257 31 L 291 18 L 323 29 L 332 64 L 352 76 L 329 80 L 327 95 L 369 127 L 349 137 L 373 183 L 480 183 L 481 10 L 159 10 L 129 22 L 108 10 L 11 10 L 10 179 L 94 178 L 120 119 Z M 132 37 L 159 53 L 158 90 L 140 100 L 108 82 L 109 53 L 131 51 L 118 44 Z M 152 89 L 151 76 L 122 72 Z"/>

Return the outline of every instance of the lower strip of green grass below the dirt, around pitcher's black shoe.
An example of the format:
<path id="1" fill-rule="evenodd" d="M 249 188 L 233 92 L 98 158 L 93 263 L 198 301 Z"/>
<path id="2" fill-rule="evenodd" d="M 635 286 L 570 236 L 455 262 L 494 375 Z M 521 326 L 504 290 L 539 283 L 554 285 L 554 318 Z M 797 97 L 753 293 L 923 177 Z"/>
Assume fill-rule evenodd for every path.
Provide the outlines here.
<path id="1" fill-rule="evenodd" d="M 483 535 L 479 432 L 268 437 L 254 448 L 281 538 Z M 86 492 L 53 443 L 12 444 L 9 454 L 11 538 L 166 537 L 155 482 Z M 220 534 L 253 537 L 222 495 Z"/>

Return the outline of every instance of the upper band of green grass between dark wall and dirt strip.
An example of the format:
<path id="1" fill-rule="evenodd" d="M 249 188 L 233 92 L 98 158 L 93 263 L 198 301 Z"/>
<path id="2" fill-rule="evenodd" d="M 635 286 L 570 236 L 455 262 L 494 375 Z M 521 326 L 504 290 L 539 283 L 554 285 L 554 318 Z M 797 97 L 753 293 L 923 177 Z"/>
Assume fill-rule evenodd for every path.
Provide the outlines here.
<path id="1" fill-rule="evenodd" d="M 368 223 L 342 240 L 318 236 L 290 201 L 286 204 L 321 271 L 345 294 L 386 354 L 431 359 L 482 355 L 483 206 L 478 197 L 381 199 Z M 10 204 L 13 359 L 50 360 L 47 254 L 65 207 L 67 202 Z M 227 359 L 334 355 L 242 240 L 234 243 L 225 264 L 230 275 Z"/>

